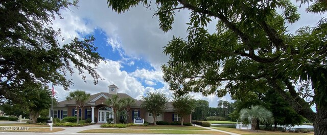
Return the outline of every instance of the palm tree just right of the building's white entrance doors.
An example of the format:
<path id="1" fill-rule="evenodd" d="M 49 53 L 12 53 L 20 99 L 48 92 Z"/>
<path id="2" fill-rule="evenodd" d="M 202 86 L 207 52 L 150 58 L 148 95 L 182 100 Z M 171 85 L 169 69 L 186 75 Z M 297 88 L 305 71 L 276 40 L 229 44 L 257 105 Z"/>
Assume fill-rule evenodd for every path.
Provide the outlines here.
<path id="1" fill-rule="evenodd" d="M 105 102 L 106 105 L 113 108 L 113 123 L 116 124 L 117 111 L 121 109 L 124 100 L 120 99 L 118 95 L 112 95 Z"/>

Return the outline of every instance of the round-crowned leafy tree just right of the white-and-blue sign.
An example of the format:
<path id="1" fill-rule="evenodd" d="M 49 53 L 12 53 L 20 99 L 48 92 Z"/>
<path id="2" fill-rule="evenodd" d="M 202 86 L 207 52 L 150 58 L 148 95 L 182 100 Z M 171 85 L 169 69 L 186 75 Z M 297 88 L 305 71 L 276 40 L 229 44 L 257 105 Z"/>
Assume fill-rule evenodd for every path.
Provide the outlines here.
<path id="1" fill-rule="evenodd" d="M 164 93 L 147 92 L 145 96 L 142 96 L 142 100 L 141 106 L 152 113 L 153 124 L 157 125 L 157 115 L 167 109 L 168 98 Z"/>

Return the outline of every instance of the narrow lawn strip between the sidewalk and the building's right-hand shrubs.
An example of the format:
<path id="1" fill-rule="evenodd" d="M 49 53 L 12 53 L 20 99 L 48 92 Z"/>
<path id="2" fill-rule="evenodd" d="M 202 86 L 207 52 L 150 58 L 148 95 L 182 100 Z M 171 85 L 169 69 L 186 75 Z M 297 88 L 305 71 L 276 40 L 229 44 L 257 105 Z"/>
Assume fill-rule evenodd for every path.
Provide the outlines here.
<path id="1" fill-rule="evenodd" d="M 174 125 L 149 125 L 149 126 L 129 126 L 126 128 L 136 129 L 185 129 L 185 130 L 207 130 L 197 126 L 174 126 Z"/>

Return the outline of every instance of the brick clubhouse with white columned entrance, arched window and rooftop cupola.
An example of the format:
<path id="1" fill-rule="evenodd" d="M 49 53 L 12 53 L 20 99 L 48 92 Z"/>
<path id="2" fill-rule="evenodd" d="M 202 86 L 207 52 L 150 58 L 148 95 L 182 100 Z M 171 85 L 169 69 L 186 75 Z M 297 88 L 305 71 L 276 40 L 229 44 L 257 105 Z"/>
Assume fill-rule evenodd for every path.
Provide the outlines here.
<path id="1" fill-rule="evenodd" d="M 85 103 L 85 106 L 80 110 L 76 109 L 75 100 L 63 100 L 58 103 L 56 107 L 53 107 L 53 117 L 63 119 L 67 116 L 77 116 L 77 111 L 79 111 L 80 117 L 82 119 L 91 119 L 92 123 L 107 123 L 107 119 L 113 118 L 113 109 L 105 105 L 105 101 L 108 98 L 111 98 L 112 95 L 118 95 L 119 98 L 130 97 L 126 93 L 118 93 L 119 88 L 117 86 L 110 85 L 108 86 L 107 92 L 100 92 L 90 96 L 90 98 Z M 134 98 L 133 98 L 134 99 Z M 153 114 L 147 112 L 141 107 L 142 100 L 135 100 L 135 106 L 130 108 L 130 118 L 127 119 L 128 123 L 132 123 L 133 119 L 142 118 L 146 122 L 153 123 Z M 166 122 L 179 122 L 180 117 L 175 113 L 174 107 L 170 102 L 167 103 L 167 109 L 164 110 L 164 113 L 157 115 L 157 121 L 166 121 Z M 123 112 L 126 113 L 126 107 L 122 107 Z M 124 111 L 125 110 L 125 111 Z M 51 111 L 49 110 L 49 116 Z M 191 123 L 191 115 L 184 118 L 184 122 Z"/>

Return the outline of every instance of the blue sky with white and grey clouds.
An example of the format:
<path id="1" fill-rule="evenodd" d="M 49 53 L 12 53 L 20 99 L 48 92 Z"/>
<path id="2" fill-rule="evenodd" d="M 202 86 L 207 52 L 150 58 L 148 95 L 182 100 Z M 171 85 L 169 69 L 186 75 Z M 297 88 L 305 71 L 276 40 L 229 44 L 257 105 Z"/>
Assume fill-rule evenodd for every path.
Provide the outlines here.
<path id="1" fill-rule="evenodd" d="M 160 69 L 161 64 L 168 61 L 162 51 L 173 36 L 186 37 L 185 23 L 189 21 L 189 11 L 176 12 L 173 29 L 165 33 L 159 29 L 158 18 L 153 16 L 154 10 L 142 5 L 122 14 L 109 9 L 107 1 L 81 0 L 78 6 L 62 10 L 64 19 L 55 20 L 53 25 L 55 28 L 61 28 L 62 36 L 65 37 L 63 43 L 74 37 L 94 35 L 98 52 L 105 57 L 106 62 L 102 61 L 99 65 L 98 73 L 104 80 L 99 80 L 98 85 L 94 85 L 89 76 L 87 83 L 84 83 L 81 77 L 75 74 L 69 77 L 74 80 L 74 86 L 71 86 L 69 91 L 79 89 L 95 94 L 107 92 L 107 86 L 115 84 L 120 93 L 127 93 L 137 99 L 148 91 L 164 92 L 171 97 L 172 92 L 163 81 Z M 312 20 L 320 19 L 320 15 L 305 14 L 303 8 L 300 13 L 303 14 L 301 20 L 290 25 L 290 31 L 303 25 L 314 25 L 316 21 Z M 209 32 L 214 32 L 215 25 L 208 25 Z M 69 93 L 60 86 L 54 88 L 60 101 Z M 215 95 L 193 95 L 197 99 L 208 100 L 211 107 L 216 107 L 217 100 L 220 99 Z M 221 99 L 232 102 L 228 95 Z"/>

